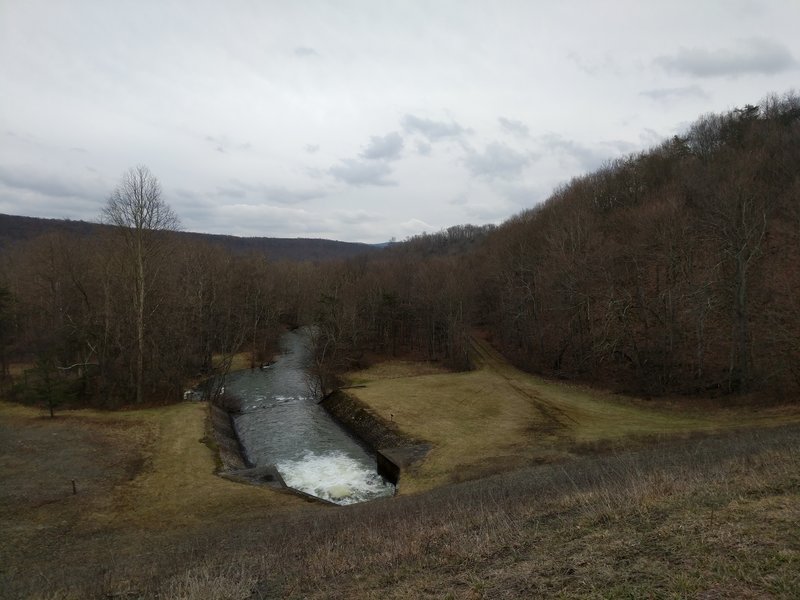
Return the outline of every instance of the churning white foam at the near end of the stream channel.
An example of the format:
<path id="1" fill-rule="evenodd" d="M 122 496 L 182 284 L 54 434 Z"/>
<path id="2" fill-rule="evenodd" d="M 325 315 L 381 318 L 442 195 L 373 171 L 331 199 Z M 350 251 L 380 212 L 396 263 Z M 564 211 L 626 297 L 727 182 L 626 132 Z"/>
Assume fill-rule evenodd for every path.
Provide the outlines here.
<path id="1" fill-rule="evenodd" d="M 394 493 L 392 484 L 343 452 L 306 452 L 299 460 L 275 466 L 289 487 L 335 504 L 355 504 Z"/>

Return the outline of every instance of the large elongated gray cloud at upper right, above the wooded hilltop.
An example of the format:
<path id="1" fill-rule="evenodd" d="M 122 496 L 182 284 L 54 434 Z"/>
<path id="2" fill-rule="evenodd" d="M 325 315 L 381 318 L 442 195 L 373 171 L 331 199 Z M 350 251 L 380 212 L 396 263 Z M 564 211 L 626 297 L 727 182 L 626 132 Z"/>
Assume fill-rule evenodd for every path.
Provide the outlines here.
<path id="1" fill-rule="evenodd" d="M 681 48 L 655 62 L 667 71 L 693 77 L 774 75 L 798 64 L 785 45 L 764 38 L 741 40 L 734 48 Z"/>

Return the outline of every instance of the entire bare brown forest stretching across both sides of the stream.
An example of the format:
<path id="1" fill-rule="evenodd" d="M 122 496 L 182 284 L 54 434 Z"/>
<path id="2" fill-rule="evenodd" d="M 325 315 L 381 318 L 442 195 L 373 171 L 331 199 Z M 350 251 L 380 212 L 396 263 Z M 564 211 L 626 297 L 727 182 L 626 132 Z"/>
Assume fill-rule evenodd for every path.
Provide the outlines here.
<path id="1" fill-rule="evenodd" d="M 794 393 L 798 167 L 789 94 L 704 116 L 499 227 L 343 260 L 269 260 L 170 228 L 144 228 L 136 259 L 124 222 L 8 240 L 3 374 L 34 363 L 17 391 L 51 403 L 176 399 L 237 351 L 269 358 L 281 325 L 314 323 L 323 388 L 381 355 L 469 368 L 479 328 L 523 368 L 616 389 Z"/>

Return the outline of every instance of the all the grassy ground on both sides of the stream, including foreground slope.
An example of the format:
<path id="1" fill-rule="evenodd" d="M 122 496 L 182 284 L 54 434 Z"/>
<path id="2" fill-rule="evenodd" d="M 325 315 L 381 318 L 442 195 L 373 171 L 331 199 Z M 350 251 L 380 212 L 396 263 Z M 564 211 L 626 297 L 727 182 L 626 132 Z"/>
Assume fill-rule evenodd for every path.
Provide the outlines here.
<path id="1" fill-rule="evenodd" d="M 215 476 L 203 404 L 0 403 L 0 597 L 800 597 L 796 407 L 645 402 L 474 352 L 353 374 L 432 451 L 350 507 Z"/>

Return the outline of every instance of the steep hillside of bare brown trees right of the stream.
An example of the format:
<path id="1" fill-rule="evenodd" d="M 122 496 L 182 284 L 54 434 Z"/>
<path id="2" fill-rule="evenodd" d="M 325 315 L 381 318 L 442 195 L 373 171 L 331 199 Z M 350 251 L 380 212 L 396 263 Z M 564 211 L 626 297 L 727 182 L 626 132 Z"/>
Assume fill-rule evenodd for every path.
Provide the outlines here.
<path id="1" fill-rule="evenodd" d="M 519 366 L 615 389 L 794 392 L 799 167 L 797 95 L 706 115 L 465 252 L 433 251 L 448 230 L 335 278 L 323 331 L 350 361 L 404 346 L 463 367 L 479 326 Z"/>

